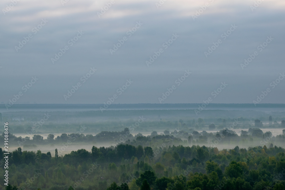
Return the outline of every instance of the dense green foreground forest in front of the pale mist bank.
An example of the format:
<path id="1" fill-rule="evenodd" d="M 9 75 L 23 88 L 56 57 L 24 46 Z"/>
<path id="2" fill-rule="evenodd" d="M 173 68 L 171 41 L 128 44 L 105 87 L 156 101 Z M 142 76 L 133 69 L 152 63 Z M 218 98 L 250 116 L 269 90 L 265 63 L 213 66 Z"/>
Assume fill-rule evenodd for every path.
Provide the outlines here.
<path id="1" fill-rule="evenodd" d="M 283 132 L 280 138 L 284 139 Z M 175 146 L 172 142 L 182 140 L 174 135 L 137 136 L 116 146 L 93 146 L 91 151 L 82 148 L 64 156 L 59 156 L 57 149 L 42 153 L 19 147 L 10 152 L 11 183 L 6 189 L 285 188 L 284 148 L 272 144 L 221 150 L 213 146 Z M 262 140 L 263 135 L 259 138 Z M 3 153 L 0 149 L 1 165 Z M 3 167 L 0 172 L 4 172 Z M 3 175 L 0 178 L 4 180 Z"/>

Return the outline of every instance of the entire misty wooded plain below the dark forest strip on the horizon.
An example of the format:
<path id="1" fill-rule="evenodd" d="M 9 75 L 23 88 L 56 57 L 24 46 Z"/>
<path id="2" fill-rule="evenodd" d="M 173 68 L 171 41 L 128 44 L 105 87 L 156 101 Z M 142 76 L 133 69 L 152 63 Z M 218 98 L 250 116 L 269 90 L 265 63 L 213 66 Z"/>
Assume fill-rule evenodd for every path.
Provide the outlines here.
<path id="1" fill-rule="evenodd" d="M 0 189 L 285 189 L 284 112 L 192 111 L 5 112 Z"/>

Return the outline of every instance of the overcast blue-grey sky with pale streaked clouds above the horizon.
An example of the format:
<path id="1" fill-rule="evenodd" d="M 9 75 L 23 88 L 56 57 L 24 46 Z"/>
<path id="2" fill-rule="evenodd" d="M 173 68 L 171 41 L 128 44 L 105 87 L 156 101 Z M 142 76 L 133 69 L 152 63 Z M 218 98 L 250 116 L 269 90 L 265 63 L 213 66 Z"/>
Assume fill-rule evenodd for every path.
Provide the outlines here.
<path id="1" fill-rule="evenodd" d="M 0 103 L 285 103 L 284 0 L 0 8 Z"/>

